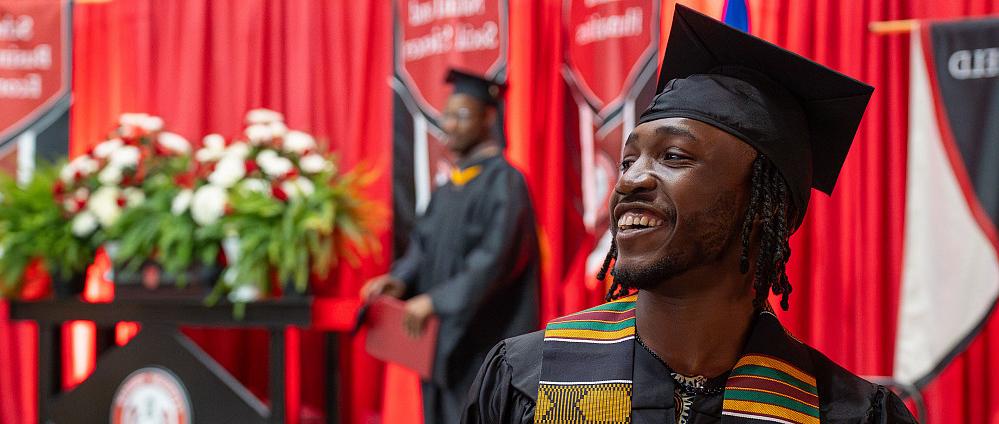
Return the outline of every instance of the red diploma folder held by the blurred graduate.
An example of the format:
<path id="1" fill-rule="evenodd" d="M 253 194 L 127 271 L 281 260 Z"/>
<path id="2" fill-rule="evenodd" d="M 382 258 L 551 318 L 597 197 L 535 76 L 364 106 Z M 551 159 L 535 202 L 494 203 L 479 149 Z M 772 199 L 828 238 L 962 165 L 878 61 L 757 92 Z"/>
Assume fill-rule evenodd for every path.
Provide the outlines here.
<path id="1" fill-rule="evenodd" d="M 423 327 L 423 333 L 413 338 L 402 326 L 406 315 L 405 304 L 388 296 L 380 296 L 371 302 L 365 318 L 368 327 L 365 349 L 375 358 L 402 365 L 429 380 L 433 375 L 440 320 L 431 316 Z"/>

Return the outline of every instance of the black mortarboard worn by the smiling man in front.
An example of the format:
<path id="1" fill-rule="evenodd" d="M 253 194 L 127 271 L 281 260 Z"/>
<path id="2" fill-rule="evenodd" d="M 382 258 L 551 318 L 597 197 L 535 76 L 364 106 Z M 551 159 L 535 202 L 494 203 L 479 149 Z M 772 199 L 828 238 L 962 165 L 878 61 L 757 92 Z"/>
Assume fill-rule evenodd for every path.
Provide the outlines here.
<path id="1" fill-rule="evenodd" d="M 639 124 L 696 119 L 753 146 L 790 188 L 796 228 L 811 187 L 832 194 L 874 88 L 677 5 L 657 91 Z"/>

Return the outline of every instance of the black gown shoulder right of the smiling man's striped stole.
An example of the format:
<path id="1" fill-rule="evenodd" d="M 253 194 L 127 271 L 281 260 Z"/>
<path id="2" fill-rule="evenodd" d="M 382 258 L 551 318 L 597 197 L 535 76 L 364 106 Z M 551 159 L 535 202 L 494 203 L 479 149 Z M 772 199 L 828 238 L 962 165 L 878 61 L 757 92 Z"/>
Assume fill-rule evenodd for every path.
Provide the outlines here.
<path id="1" fill-rule="evenodd" d="M 809 347 L 821 399 L 823 423 L 916 423 L 901 399 L 886 387 L 847 371 Z"/>

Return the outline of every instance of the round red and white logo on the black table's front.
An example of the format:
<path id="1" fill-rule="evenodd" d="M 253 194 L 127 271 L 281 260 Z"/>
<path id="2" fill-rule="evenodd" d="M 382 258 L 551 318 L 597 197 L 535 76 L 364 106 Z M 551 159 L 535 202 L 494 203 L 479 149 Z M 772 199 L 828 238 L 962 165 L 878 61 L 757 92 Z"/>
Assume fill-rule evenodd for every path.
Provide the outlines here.
<path id="1" fill-rule="evenodd" d="M 190 424 L 191 402 L 172 372 L 146 367 L 129 374 L 111 402 L 111 424 Z"/>

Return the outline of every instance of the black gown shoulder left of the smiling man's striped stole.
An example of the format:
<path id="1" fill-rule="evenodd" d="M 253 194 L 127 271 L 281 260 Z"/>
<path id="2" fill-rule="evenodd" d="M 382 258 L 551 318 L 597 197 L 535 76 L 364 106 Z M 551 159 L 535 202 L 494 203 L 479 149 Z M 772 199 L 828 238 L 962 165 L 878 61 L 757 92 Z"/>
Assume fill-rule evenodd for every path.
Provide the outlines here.
<path id="1" fill-rule="evenodd" d="M 543 343 L 544 332 L 536 331 L 493 347 L 468 392 L 461 422 L 533 423 Z"/>

